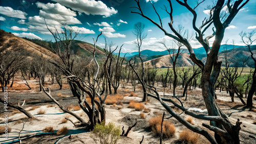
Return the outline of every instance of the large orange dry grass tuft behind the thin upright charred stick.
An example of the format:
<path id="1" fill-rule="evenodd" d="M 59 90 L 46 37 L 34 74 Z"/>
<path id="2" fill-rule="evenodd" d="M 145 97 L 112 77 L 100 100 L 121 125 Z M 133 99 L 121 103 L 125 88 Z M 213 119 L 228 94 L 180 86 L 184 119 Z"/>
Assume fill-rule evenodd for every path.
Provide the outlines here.
<path id="1" fill-rule="evenodd" d="M 161 122 L 162 122 L 162 116 L 156 116 L 152 117 L 150 121 L 148 121 L 149 126 L 151 127 L 153 133 L 155 135 L 161 134 Z M 176 132 L 176 128 L 172 122 L 168 120 L 163 121 L 163 138 L 170 138 L 172 137 Z"/>

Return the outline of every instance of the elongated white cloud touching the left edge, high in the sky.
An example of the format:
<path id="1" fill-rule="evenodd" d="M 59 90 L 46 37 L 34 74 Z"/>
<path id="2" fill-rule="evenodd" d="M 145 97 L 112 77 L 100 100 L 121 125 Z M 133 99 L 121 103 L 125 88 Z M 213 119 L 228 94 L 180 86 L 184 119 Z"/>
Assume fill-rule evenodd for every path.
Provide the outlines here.
<path id="1" fill-rule="evenodd" d="M 6 15 L 9 17 L 16 17 L 20 19 L 26 19 L 26 15 L 28 15 L 26 12 L 13 10 L 11 7 L 2 7 L 2 6 L 0 6 L 0 14 Z"/>

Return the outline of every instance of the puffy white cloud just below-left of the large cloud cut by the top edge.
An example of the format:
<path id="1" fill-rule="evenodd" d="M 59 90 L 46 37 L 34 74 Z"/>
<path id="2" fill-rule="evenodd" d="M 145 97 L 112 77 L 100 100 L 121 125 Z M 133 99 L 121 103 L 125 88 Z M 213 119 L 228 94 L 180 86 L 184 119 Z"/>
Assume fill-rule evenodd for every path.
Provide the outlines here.
<path id="1" fill-rule="evenodd" d="M 41 8 L 39 10 L 39 16 L 44 17 L 46 19 L 56 20 L 61 24 L 73 25 L 73 24 L 81 24 L 81 22 L 75 18 L 76 12 L 62 6 L 60 4 L 51 4 L 51 3 L 40 3 L 37 2 L 36 6 Z"/>

